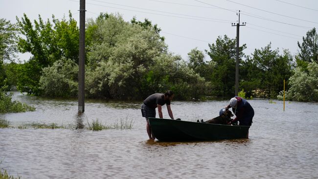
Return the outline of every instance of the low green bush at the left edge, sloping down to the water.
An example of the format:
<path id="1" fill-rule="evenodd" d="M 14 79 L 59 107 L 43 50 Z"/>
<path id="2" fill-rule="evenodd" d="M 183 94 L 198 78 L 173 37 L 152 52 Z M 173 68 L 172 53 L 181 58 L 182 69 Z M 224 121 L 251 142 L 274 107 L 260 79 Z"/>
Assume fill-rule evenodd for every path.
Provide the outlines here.
<path id="1" fill-rule="evenodd" d="M 34 111 L 35 107 L 18 101 L 12 102 L 13 93 L 0 91 L 0 113 Z"/>

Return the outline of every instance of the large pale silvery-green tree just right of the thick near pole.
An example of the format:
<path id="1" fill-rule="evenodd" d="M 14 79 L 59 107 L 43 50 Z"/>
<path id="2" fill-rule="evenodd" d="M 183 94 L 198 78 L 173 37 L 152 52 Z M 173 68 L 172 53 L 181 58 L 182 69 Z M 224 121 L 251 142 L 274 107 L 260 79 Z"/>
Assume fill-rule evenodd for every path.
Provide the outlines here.
<path id="1" fill-rule="evenodd" d="M 89 22 L 96 43 L 89 52 L 89 95 L 132 99 L 143 95 L 141 80 L 166 45 L 153 28 L 125 22 L 118 14 Z M 96 26 L 97 25 L 97 26 Z"/>

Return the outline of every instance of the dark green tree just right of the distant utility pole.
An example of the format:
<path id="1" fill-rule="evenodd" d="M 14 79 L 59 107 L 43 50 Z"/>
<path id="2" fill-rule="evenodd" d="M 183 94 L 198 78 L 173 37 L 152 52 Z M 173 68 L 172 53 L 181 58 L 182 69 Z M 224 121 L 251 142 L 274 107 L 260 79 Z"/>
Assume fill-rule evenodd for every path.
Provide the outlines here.
<path id="1" fill-rule="evenodd" d="M 280 55 L 278 49 L 272 50 L 270 43 L 265 48 L 255 49 L 252 57 L 248 56 L 243 62 L 240 86 L 247 89 L 248 96 L 275 98 L 283 89 L 283 80 L 292 76 L 293 67 L 290 52 L 284 50 Z M 252 94 L 253 90 L 257 93 Z"/>

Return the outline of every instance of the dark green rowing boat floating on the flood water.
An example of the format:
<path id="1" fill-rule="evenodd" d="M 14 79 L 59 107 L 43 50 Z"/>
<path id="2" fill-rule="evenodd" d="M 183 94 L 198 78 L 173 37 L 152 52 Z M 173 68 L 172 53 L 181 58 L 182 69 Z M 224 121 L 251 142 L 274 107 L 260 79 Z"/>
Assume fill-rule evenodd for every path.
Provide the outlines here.
<path id="1" fill-rule="evenodd" d="M 190 121 L 149 118 L 159 141 L 210 141 L 248 138 L 250 126 L 230 126 Z"/>

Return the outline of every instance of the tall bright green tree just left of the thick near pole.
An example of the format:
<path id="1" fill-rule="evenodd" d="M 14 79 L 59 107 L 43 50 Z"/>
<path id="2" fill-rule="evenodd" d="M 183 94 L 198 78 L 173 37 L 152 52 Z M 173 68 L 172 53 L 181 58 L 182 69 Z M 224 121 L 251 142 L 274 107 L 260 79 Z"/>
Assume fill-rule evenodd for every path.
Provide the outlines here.
<path id="1" fill-rule="evenodd" d="M 39 95 L 39 80 L 42 68 L 51 66 L 56 60 L 66 58 L 78 63 L 79 29 L 69 13 L 69 20 L 59 21 L 52 16 L 54 26 L 49 20 L 39 20 L 34 25 L 23 14 L 17 17 L 17 25 L 24 37 L 19 38 L 19 51 L 30 52 L 33 56 L 19 69 L 18 89 L 29 94 Z"/>

